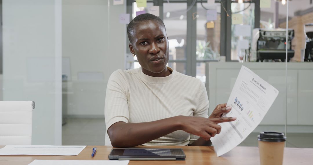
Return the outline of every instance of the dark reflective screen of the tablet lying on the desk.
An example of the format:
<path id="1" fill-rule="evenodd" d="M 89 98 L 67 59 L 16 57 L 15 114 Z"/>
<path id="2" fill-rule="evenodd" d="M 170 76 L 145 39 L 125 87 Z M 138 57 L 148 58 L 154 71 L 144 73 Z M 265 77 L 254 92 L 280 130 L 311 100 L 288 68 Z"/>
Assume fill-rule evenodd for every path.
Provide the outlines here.
<path id="1" fill-rule="evenodd" d="M 118 156 L 176 156 L 183 155 L 182 149 L 113 149 L 110 155 Z"/>

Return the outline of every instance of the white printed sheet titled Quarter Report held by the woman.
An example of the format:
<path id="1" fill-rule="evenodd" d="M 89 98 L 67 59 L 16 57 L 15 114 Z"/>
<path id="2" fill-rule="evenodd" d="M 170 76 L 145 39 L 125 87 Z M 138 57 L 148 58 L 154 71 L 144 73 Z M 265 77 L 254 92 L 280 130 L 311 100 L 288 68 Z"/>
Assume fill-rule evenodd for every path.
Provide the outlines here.
<path id="1" fill-rule="evenodd" d="M 232 110 L 223 115 L 237 117 L 237 120 L 220 123 L 221 133 L 211 138 L 217 156 L 227 153 L 247 138 L 262 121 L 278 93 L 249 68 L 241 67 L 227 102 Z"/>

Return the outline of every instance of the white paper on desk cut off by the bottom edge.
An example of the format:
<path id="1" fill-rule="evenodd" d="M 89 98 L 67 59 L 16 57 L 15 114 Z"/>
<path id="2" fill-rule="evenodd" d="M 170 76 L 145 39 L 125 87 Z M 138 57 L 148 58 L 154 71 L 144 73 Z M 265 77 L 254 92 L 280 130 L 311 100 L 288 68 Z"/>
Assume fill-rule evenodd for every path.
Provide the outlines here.
<path id="1" fill-rule="evenodd" d="M 28 165 L 127 165 L 129 160 L 34 160 Z"/>

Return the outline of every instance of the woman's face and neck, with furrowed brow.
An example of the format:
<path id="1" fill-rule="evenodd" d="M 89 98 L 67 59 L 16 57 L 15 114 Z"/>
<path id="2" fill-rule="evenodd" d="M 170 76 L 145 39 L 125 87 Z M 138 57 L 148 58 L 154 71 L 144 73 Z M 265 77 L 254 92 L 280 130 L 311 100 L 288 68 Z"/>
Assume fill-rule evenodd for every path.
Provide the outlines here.
<path id="1" fill-rule="evenodd" d="M 143 73 L 153 77 L 165 77 L 170 73 L 166 64 L 169 59 L 168 39 L 165 28 L 156 21 L 138 22 L 131 53 L 137 56 Z"/>

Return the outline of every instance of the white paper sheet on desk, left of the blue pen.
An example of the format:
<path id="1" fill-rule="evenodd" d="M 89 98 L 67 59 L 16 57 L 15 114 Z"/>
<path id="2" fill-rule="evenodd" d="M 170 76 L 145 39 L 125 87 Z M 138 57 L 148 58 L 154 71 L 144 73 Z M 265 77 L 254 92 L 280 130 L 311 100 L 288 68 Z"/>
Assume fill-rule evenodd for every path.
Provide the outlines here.
<path id="1" fill-rule="evenodd" d="M 6 145 L 0 155 L 78 155 L 86 146 Z"/>

